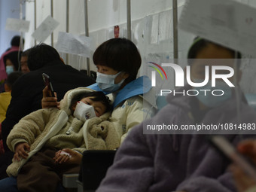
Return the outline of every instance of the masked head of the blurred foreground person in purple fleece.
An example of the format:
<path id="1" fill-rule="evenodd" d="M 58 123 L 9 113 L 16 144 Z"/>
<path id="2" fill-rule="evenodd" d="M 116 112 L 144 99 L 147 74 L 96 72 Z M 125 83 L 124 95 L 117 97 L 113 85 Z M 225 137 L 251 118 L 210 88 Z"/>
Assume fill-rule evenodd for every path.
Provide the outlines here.
<path id="1" fill-rule="evenodd" d="M 237 60 L 237 69 L 234 66 L 235 60 Z M 236 82 L 240 81 L 242 72 L 239 70 L 241 53 L 235 53 L 234 50 L 222 47 L 218 44 L 214 44 L 211 41 L 207 41 L 203 38 L 195 38 L 194 43 L 191 45 L 190 50 L 187 54 L 188 63 L 190 65 L 190 78 L 194 83 L 202 83 L 206 80 L 207 72 L 206 66 L 209 66 L 209 81 L 207 84 L 201 87 L 192 87 L 194 90 L 197 90 L 197 94 L 194 102 L 194 105 L 197 104 L 198 108 L 202 111 L 207 111 L 209 108 L 217 108 L 226 102 L 228 99 L 231 99 L 235 95 L 235 90 L 233 87 L 230 87 L 223 79 L 215 80 L 215 87 L 212 87 L 212 66 L 228 66 L 236 70 Z M 211 59 L 211 60 L 209 60 Z M 217 74 L 226 74 L 225 70 L 218 70 Z M 231 84 L 235 84 L 235 75 L 232 78 L 228 78 Z M 209 91 L 200 91 L 200 90 L 209 90 Z M 221 96 L 215 96 L 212 94 L 213 90 L 223 90 Z M 242 98 L 245 100 L 244 98 Z"/>

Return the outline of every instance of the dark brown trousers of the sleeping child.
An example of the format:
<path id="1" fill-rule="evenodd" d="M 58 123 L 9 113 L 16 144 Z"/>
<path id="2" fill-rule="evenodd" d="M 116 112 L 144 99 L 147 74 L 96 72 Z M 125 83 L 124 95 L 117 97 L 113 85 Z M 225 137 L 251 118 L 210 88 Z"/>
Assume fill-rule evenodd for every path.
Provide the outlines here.
<path id="1" fill-rule="evenodd" d="M 17 187 L 20 192 L 56 192 L 64 173 L 78 173 L 80 165 L 55 163 L 55 148 L 38 151 L 20 170 Z"/>

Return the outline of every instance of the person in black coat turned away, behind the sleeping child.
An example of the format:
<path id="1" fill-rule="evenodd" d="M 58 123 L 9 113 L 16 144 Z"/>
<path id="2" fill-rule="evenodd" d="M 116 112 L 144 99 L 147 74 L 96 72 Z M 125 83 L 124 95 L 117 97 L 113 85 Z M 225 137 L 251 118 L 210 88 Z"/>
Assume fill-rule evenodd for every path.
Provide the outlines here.
<path id="1" fill-rule="evenodd" d="M 42 73 L 50 76 L 59 101 L 68 90 L 76 87 L 87 87 L 95 83 L 93 78 L 62 62 L 59 53 L 47 44 L 38 44 L 31 48 L 28 66 L 31 72 L 23 75 L 15 82 L 6 119 L 2 122 L 2 139 L 6 151 L 5 155 L 8 158 L 0 157 L 0 165 L 11 164 L 13 154 L 9 154 L 11 151 L 6 145 L 6 139 L 13 126 L 22 117 L 41 108 L 42 90 L 45 87 Z M 5 168 L 0 167 L 0 178 L 7 177 L 6 168 L 7 166 Z"/>

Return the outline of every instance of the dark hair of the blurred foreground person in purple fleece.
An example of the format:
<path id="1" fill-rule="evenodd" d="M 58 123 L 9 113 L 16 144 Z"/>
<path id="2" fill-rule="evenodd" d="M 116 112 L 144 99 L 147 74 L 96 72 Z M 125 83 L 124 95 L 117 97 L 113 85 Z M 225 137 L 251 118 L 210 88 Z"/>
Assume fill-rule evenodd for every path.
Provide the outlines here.
<path id="1" fill-rule="evenodd" d="M 204 38 L 196 37 L 196 38 L 194 38 L 194 42 L 193 42 L 193 44 L 191 44 L 191 46 L 190 46 L 190 48 L 188 50 L 187 59 L 192 59 L 192 60 L 196 59 L 197 54 L 201 50 L 203 50 L 205 47 L 207 47 L 209 44 L 215 44 L 218 47 L 224 47 L 224 46 L 222 46 L 220 44 L 216 44 L 215 42 L 208 41 L 208 40 L 206 40 Z M 232 54 L 233 58 L 236 58 L 236 59 L 241 59 L 242 58 L 242 54 L 239 51 L 232 50 L 232 49 L 230 49 L 228 47 L 224 47 L 224 48 L 230 51 L 230 53 Z M 240 65 L 240 61 L 238 62 L 238 64 Z"/>

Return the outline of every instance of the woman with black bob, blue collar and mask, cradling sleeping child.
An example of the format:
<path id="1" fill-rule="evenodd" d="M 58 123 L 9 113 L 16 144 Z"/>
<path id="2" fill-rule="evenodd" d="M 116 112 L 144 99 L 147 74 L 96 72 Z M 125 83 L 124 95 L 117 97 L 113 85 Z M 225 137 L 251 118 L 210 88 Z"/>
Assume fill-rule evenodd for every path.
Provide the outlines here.
<path id="1" fill-rule="evenodd" d="M 143 102 L 142 94 L 151 90 L 148 77 L 137 77 L 141 66 L 141 56 L 135 44 L 125 38 L 105 41 L 93 54 L 97 67 L 96 84 L 89 88 L 110 94 L 113 112 L 110 121 L 114 124 L 121 142 L 126 133 L 143 120 L 151 105 Z M 56 98 L 47 97 L 47 87 L 43 91 L 42 108 L 56 107 Z"/>

